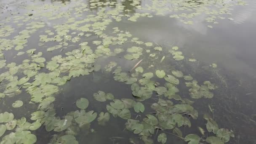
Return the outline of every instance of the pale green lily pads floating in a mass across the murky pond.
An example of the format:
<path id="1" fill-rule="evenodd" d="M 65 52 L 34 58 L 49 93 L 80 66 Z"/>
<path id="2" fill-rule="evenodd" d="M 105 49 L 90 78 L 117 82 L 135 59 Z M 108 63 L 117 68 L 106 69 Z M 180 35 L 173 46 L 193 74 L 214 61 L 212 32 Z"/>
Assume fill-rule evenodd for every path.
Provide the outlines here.
<path id="1" fill-rule="evenodd" d="M 22 96 L 26 92 L 31 96 L 26 105 L 37 109 L 32 109 L 31 117 L 16 117 L 10 111 L 0 113 L 0 144 L 33 144 L 37 141 L 34 131 L 40 127 L 48 132 L 56 132 L 50 141 L 53 144 L 77 144 L 76 136 L 90 129 L 90 124 L 96 119 L 99 125 L 106 125 L 112 117 L 117 116 L 127 120 L 125 128 L 138 134 L 146 144 L 154 143 L 152 137 L 158 134 L 157 131 L 161 131 L 157 141 L 163 144 L 168 140 L 170 132 L 189 144 L 205 141 L 222 144 L 234 136 L 231 130 L 219 128 L 211 117 L 205 115 L 206 129 L 210 136 L 207 137 L 203 128 L 200 128 L 201 136 L 188 134 L 183 137 L 179 128 L 189 128 L 192 125 L 189 117 L 197 119 L 198 112 L 192 107 L 193 101 L 179 95 L 179 85 L 188 87 L 192 99 L 213 98 L 212 91 L 217 88 L 208 80 L 198 84 L 191 75 L 184 75 L 174 67 L 170 70 L 168 66 L 170 63 L 187 60 L 193 62 L 195 59 L 186 58 L 178 51 L 178 46 L 165 48 L 152 42 L 143 42 L 118 27 L 112 28 L 111 33 L 105 30 L 112 19 L 122 21 L 128 17 L 128 20 L 136 21 L 141 16 L 150 18 L 154 14 L 166 15 L 166 12 L 171 11 L 180 13 L 171 17 L 186 19 L 206 13 L 209 15 L 206 20 L 216 23 L 216 16 L 230 12 L 229 6 L 245 3 L 234 1 L 219 7 L 222 5 L 219 1 L 151 0 L 143 7 L 139 0 L 131 0 L 128 4 L 138 11 L 129 15 L 124 13 L 131 10 L 125 9 L 128 7 L 122 2 L 90 0 L 88 4 L 72 1 L 72 6 L 68 3 L 28 5 L 24 7 L 27 11 L 23 15 L 13 13 L 13 16 L 1 21 L 4 26 L 0 28 L 0 102 L 8 101 L 9 97 Z M 214 5 L 217 10 L 210 8 Z M 62 10 L 68 6 L 72 8 Z M 94 8 L 99 9 L 91 13 L 90 10 Z M 32 14 L 30 10 L 35 11 Z M 189 11 L 193 12 L 184 13 Z M 64 22 L 58 24 L 56 20 Z M 184 19 L 181 21 L 192 24 Z M 17 31 L 16 27 L 8 25 L 9 22 L 17 23 L 16 27 L 21 30 Z M 35 37 L 38 40 L 37 48 L 30 46 L 31 38 Z M 5 59 L 10 51 L 13 52 L 12 49 L 15 50 L 15 58 L 21 61 L 15 63 Z M 163 51 L 170 54 L 164 55 Z M 96 64 L 99 58 L 108 61 L 108 58 L 115 56 L 124 58 L 128 63 L 140 61 L 130 72 L 123 71 L 118 61 L 109 61 L 105 66 Z M 160 65 L 151 65 L 153 61 Z M 216 68 L 216 64 L 212 64 L 212 67 Z M 89 110 L 88 99 L 82 97 L 76 101 L 76 111 L 68 112 L 63 117 L 56 116 L 54 101 L 61 92 L 61 85 L 74 77 L 93 75 L 100 70 L 113 74 L 117 83 L 129 85 L 130 97 L 118 99 L 112 93 L 98 91 L 92 97 L 106 104 L 105 111 Z M 144 101 L 152 99 L 157 102 L 150 107 L 144 106 Z M 25 102 L 22 100 L 21 97 L 13 101 L 12 107 L 23 108 Z M 154 112 L 141 115 L 146 109 Z"/>

